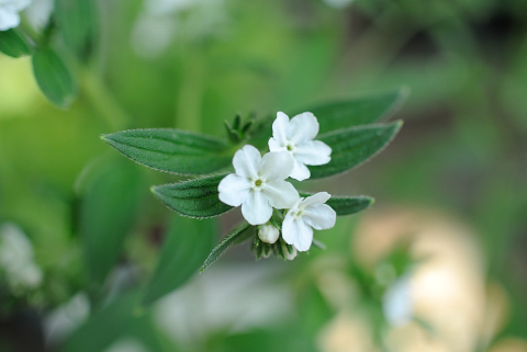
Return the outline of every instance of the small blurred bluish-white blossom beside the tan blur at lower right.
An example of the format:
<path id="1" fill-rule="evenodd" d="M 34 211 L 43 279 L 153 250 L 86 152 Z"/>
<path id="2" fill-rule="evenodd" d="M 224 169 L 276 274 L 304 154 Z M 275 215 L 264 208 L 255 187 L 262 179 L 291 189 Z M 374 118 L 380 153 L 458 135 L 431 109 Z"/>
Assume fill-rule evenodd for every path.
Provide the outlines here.
<path id="1" fill-rule="evenodd" d="M 403 275 L 388 287 L 382 297 L 382 310 L 386 321 L 394 326 L 403 326 L 412 319 L 412 292 L 410 275 Z"/>

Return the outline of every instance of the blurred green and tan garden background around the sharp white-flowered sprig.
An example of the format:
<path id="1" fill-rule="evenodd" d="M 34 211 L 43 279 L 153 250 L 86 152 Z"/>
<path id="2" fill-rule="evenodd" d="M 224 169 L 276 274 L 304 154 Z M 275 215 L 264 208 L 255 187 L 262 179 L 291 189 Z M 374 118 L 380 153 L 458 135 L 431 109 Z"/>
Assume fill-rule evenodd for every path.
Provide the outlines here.
<path id="1" fill-rule="evenodd" d="M 94 58 L 67 57 L 79 84 L 68 110 L 44 99 L 29 58 L 0 56 L 0 223 L 31 241 L 42 276 L 26 287 L 0 274 L 0 351 L 527 351 L 524 0 L 98 5 Z M 236 248 L 153 309 L 134 308 L 170 222 L 194 225 L 148 192 L 177 177 L 126 160 L 101 134 L 224 137 L 237 113 L 401 86 L 405 124 L 389 148 L 307 183 L 377 200 L 319 232 L 325 251 L 256 262 Z M 220 218 L 217 240 L 236 219 Z M 122 247 L 90 252 L 86 234 Z M 384 293 L 401 276 L 415 319 L 394 325 Z"/>

